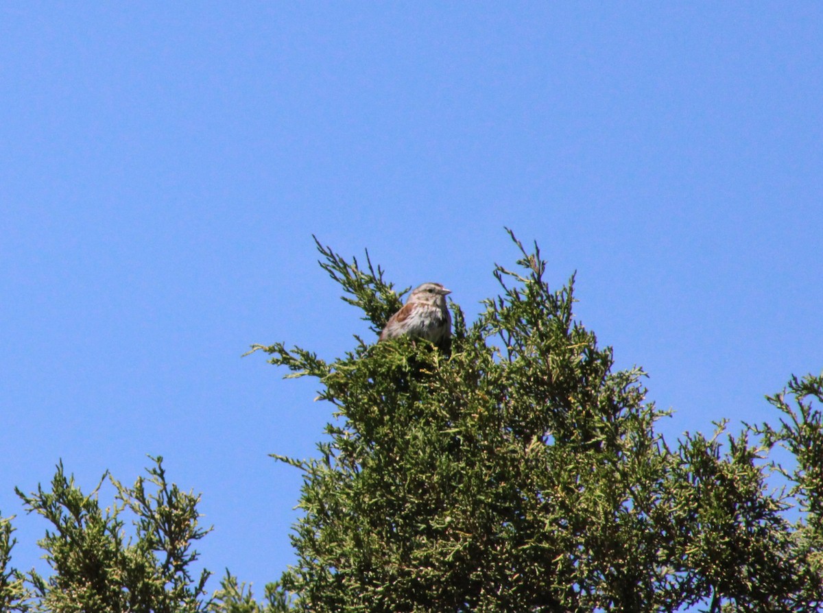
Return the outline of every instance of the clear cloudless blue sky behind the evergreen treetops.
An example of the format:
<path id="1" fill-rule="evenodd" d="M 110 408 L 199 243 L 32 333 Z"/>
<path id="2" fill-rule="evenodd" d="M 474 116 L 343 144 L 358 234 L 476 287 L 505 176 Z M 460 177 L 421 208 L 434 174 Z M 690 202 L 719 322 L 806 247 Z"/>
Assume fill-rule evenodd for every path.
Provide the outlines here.
<path id="1" fill-rule="evenodd" d="M 0 6 L 0 510 L 160 454 L 202 562 L 293 560 L 331 408 L 252 343 L 364 334 L 311 235 L 472 318 L 537 240 L 672 440 L 823 368 L 823 5 Z M 22 516 L 22 517 L 21 517 Z M 210 587 L 216 588 L 212 580 Z"/>

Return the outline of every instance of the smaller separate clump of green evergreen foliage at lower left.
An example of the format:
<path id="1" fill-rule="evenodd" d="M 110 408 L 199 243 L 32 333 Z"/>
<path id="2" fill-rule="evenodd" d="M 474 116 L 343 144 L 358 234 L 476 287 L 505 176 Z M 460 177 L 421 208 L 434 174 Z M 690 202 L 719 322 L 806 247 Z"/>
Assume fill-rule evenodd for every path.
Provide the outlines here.
<path id="1" fill-rule="evenodd" d="M 51 490 L 17 494 L 30 513 L 46 518 L 52 529 L 40 546 L 53 569 L 48 578 L 31 571 L 35 611 L 49 613 L 198 613 L 209 576 L 195 582 L 189 570 L 198 558 L 193 541 L 209 530 L 198 527 L 199 496 L 180 491 L 165 479 L 162 458 L 152 458 L 149 478 L 133 487 L 109 477 L 115 504 L 101 509 L 100 485 L 83 494 L 58 464 Z M 127 539 L 124 516 L 133 516 Z M 3 610 L 5 611 L 5 609 Z"/>

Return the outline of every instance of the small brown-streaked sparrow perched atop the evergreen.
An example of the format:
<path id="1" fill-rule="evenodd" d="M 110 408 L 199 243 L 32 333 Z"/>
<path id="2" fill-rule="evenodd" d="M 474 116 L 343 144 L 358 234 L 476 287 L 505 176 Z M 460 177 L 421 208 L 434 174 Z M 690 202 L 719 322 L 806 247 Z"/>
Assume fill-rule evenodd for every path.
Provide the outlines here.
<path id="1" fill-rule="evenodd" d="M 388 320 L 379 341 L 402 336 L 425 338 L 441 348 L 452 335 L 452 316 L 446 308 L 451 294 L 439 283 L 424 283 L 409 295 L 406 304 Z"/>

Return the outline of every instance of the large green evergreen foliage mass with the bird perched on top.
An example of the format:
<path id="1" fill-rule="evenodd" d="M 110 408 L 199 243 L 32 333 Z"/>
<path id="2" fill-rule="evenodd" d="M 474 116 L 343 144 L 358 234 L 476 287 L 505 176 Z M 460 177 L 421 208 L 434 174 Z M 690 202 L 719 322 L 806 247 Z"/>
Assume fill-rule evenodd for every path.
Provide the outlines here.
<path id="1" fill-rule="evenodd" d="M 813 611 L 823 594 L 820 411 L 787 411 L 780 396 L 779 430 L 721 444 L 720 425 L 670 448 L 654 431 L 665 412 L 645 401 L 643 371 L 613 369 L 611 348 L 574 320 L 574 277 L 551 290 L 537 247 L 512 239 L 518 270 L 495 267 L 502 292 L 477 321 L 451 305 L 449 356 L 403 338 L 358 338 L 331 362 L 253 346 L 287 376 L 317 378 L 336 410 L 319 457 L 274 456 L 304 472 L 297 563 L 276 590 L 295 599 L 283 606 Z M 344 300 L 378 332 L 401 304 L 383 271 L 318 247 Z M 821 400 L 821 379 L 804 381 L 793 392 Z M 768 490 L 775 443 L 799 460 L 788 494 Z M 795 498 L 804 513 L 793 523 Z M 234 586 L 235 601 L 250 603 Z"/>

